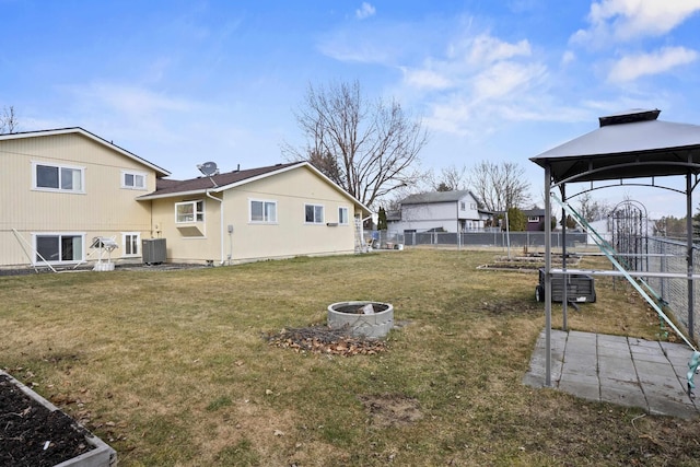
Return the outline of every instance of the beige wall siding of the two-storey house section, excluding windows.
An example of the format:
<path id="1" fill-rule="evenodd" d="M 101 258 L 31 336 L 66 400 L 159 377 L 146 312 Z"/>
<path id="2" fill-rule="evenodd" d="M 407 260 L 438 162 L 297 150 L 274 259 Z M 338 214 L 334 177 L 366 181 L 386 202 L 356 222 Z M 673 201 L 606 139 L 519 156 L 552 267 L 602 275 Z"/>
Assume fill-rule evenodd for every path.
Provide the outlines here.
<path id="1" fill-rule="evenodd" d="M 33 189 L 33 163 L 84 167 L 83 192 Z M 147 190 L 121 188 L 122 170 L 145 173 Z M 0 265 L 28 262 L 13 229 L 30 244 L 36 233 L 84 234 L 85 255 L 94 236 L 121 247 L 121 232 L 148 235 L 150 203 L 136 198 L 154 188 L 154 171 L 80 133 L 0 140 Z"/>

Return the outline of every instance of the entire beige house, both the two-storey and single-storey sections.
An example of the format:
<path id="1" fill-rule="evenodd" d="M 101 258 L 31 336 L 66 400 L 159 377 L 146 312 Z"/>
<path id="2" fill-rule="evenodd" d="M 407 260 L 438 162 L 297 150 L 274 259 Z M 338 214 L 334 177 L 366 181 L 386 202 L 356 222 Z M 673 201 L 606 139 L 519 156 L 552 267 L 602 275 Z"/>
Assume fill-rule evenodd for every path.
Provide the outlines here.
<path id="1" fill-rule="evenodd" d="M 167 175 L 82 128 L 0 135 L 0 267 L 94 262 L 95 237 L 115 241 L 115 262 L 141 262 L 151 238 L 168 262 L 352 253 L 371 214 L 305 162 Z"/>

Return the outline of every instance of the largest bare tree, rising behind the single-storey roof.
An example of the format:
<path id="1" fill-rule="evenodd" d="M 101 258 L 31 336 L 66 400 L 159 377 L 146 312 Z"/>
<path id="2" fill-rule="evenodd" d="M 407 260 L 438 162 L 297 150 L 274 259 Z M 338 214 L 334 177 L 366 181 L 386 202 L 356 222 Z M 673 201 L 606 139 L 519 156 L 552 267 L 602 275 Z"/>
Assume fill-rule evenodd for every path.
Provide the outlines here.
<path id="1" fill-rule="evenodd" d="M 358 81 L 310 85 L 295 116 L 306 147 L 284 144 L 282 152 L 311 162 L 366 206 L 420 177 L 412 165 L 428 142 L 421 121 L 396 101 L 366 101 Z"/>

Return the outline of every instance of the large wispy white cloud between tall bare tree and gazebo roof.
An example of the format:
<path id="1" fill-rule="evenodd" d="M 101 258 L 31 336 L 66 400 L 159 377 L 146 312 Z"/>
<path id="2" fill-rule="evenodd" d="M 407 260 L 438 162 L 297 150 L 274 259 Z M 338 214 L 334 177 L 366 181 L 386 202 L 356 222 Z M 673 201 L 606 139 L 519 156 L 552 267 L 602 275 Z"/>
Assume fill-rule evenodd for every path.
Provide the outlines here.
<path id="1" fill-rule="evenodd" d="M 551 118 L 541 97 L 547 67 L 528 40 L 506 42 L 489 33 L 464 34 L 444 56 L 401 68 L 404 94 L 420 100 L 433 130 L 481 139 L 503 121 Z"/>

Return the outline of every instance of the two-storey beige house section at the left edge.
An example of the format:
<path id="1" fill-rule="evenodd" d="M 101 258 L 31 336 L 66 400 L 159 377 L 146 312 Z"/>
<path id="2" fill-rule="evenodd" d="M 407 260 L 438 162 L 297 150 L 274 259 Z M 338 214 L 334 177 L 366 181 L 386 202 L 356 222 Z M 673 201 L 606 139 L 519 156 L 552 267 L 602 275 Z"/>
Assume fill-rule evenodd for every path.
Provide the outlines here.
<path id="1" fill-rule="evenodd" d="M 95 260 L 96 236 L 140 261 L 151 207 L 137 198 L 166 175 L 82 128 L 0 135 L 0 267 Z"/>

